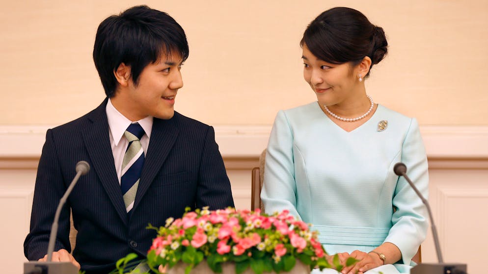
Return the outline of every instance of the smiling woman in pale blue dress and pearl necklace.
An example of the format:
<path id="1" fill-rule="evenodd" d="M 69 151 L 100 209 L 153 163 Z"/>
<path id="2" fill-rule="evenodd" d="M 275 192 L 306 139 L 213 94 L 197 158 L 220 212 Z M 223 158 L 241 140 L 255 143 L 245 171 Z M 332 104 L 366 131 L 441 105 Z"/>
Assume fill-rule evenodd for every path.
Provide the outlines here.
<path id="1" fill-rule="evenodd" d="M 342 264 L 358 260 L 341 273 L 408 273 L 427 215 L 393 166 L 405 163 L 427 197 L 427 157 L 417 121 L 366 93 L 364 79 L 387 52 L 383 29 L 357 10 L 332 8 L 308 25 L 300 46 L 303 76 L 318 101 L 276 116 L 261 193 L 265 211 L 290 210 L 313 224 Z"/>

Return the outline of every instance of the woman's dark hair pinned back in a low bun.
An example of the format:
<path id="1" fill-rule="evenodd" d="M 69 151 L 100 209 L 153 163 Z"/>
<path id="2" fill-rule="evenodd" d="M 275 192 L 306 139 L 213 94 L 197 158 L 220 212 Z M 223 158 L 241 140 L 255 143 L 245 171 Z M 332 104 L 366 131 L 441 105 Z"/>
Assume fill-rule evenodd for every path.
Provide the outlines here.
<path id="1" fill-rule="evenodd" d="M 303 33 L 300 46 L 303 45 L 317 58 L 332 64 L 357 65 L 368 56 L 371 67 L 380 63 L 388 51 L 383 28 L 346 7 L 331 8 L 315 18 Z M 368 75 L 369 72 L 365 76 Z"/>

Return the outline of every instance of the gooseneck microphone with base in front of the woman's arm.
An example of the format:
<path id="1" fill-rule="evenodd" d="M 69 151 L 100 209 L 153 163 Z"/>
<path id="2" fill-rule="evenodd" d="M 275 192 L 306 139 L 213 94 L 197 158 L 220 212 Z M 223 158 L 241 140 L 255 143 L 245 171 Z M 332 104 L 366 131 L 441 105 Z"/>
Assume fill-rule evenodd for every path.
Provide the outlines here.
<path id="1" fill-rule="evenodd" d="M 429 219 L 431 220 L 432 235 L 434 237 L 435 252 L 437 254 L 438 264 L 422 264 L 413 267 L 410 270 L 410 274 L 466 274 L 465 264 L 446 264 L 442 259 L 442 252 L 440 250 L 439 238 L 437 236 L 437 228 L 434 224 L 434 219 L 432 217 L 431 206 L 429 202 L 422 196 L 420 191 L 415 187 L 413 182 L 407 176 L 407 166 L 404 163 L 396 163 L 393 167 L 393 172 L 398 176 L 403 176 L 410 187 L 415 191 L 417 196 L 422 200 L 424 205 L 427 207 L 427 212 L 429 214 Z"/>

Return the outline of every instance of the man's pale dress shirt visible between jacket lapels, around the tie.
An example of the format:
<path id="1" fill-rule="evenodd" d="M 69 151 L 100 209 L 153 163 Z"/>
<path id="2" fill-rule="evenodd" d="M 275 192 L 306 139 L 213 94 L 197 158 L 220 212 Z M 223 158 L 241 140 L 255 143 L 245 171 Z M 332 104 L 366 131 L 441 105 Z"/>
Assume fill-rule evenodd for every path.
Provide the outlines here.
<path id="1" fill-rule="evenodd" d="M 107 119 L 108 119 L 108 136 L 110 137 L 110 147 L 112 148 L 113 162 L 115 164 L 115 170 L 117 171 L 117 178 L 122 176 L 122 161 L 124 160 L 124 154 L 127 150 L 129 142 L 124 136 L 124 132 L 131 124 L 139 123 L 144 129 L 144 136 L 142 136 L 140 143 L 144 150 L 144 155 L 147 153 L 147 147 L 149 146 L 149 138 L 151 138 L 151 129 L 153 128 L 153 117 L 148 116 L 139 121 L 132 122 L 127 119 L 122 113 L 120 113 L 113 105 L 110 99 L 108 99 L 107 107 Z"/>

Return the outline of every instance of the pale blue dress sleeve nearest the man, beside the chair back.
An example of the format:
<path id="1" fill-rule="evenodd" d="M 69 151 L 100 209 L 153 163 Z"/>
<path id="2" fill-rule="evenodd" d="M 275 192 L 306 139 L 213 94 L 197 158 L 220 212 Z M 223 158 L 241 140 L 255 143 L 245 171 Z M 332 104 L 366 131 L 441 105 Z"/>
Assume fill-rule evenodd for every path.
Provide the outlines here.
<path id="1" fill-rule="evenodd" d="M 274 120 L 266 152 L 261 191 L 265 212 L 272 214 L 286 209 L 290 214 L 300 218 L 296 193 L 293 131 L 285 113 L 279 111 Z"/>

